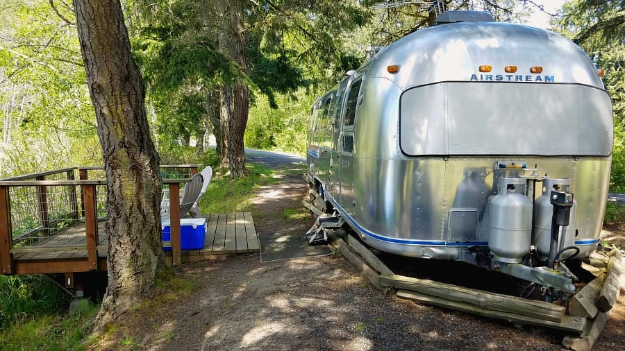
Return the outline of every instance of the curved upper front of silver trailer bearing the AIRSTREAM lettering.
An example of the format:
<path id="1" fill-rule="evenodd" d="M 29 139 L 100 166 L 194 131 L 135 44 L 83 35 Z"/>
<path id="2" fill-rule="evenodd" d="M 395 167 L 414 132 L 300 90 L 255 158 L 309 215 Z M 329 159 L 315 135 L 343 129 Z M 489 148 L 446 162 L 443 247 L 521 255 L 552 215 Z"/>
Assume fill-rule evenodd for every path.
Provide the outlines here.
<path id="1" fill-rule="evenodd" d="M 386 67 L 400 65 L 397 74 Z M 492 66 L 482 73 L 481 65 Z M 504 67 L 518 71 L 506 74 Z M 543 67 L 531 74 L 530 67 Z M 578 83 L 603 89 L 588 56 L 562 35 L 506 23 L 456 23 L 406 35 L 371 62 L 367 76 L 392 80 L 401 89 L 442 81 L 497 80 L 543 84 Z M 474 76 L 475 75 L 475 76 Z M 490 75 L 490 78 L 487 77 Z"/>

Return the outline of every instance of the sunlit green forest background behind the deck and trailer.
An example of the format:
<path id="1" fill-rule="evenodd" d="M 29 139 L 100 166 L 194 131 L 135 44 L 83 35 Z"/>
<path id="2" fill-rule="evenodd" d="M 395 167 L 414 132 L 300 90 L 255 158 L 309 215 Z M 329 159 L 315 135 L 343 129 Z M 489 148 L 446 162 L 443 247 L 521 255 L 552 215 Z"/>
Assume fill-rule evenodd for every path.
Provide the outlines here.
<path id="1" fill-rule="evenodd" d="M 229 8 L 222 3 L 122 1 L 163 164 L 197 160 L 209 140 L 220 151 L 220 89 L 234 80 L 249 90 L 245 146 L 302 155 L 316 97 L 365 62 L 375 46 L 428 26 L 428 11 L 434 6 L 487 10 L 499 21 L 516 23 L 526 22 L 530 10 L 541 10 L 541 1 L 524 0 L 239 3 L 245 65 L 224 40 L 230 23 Z M 400 3 L 403 6 L 397 6 Z M 622 191 L 623 1 L 569 1 L 551 15 L 552 29 L 580 44 L 597 67 L 607 71 L 604 82 L 615 117 L 611 185 L 612 191 Z M 0 178 L 66 166 L 101 166 L 72 3 L 3 0 L 0 23 Z"/>

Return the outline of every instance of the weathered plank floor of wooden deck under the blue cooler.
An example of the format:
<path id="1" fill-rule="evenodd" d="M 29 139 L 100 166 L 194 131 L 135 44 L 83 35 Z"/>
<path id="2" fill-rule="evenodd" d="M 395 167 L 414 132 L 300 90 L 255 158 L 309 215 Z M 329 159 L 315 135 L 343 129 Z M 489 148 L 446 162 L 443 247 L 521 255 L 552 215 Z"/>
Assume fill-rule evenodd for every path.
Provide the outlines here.
<path id="1" fill-rule="evenodd" d="M 98 222 L 98 269 L 106 270 L 108 238 L 104 222 Z M 217 255 L 258 252 L 260 244 L 249 212 L 210 214 L 206 216 L 206 239 L 201 250 L 182 250 L 182 262 L 197 262 Z M 88 259 L 85 223 L 67 228 L 58 235 L 44 237 L 30 246 L 10 250 L 17 273 L 64 273 L 88 271 L 80 264 Z M 172 264 L 172 251 L 165 252 Z"/>

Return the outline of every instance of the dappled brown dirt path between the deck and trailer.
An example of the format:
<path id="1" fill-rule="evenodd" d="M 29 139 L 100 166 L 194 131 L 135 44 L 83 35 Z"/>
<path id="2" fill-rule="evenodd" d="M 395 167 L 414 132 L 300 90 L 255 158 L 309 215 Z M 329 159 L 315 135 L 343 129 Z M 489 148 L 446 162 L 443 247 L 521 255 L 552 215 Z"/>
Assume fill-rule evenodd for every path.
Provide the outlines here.
<path id="1" fill-rule="evenodd" d="M 285 219 L 306 195 L 301 176 L 260 189 L 259 235 L 301 233 Z M 622 237 L 622 235 L 621 235 Z M 342 257 L 261 263 L 231 256 L 177 268 L 190 293 L 160 296 L 102 341 L 119 350 L 564 350 L 562 334 L 515 327 L 383 296 Z M 595 350 L 625 350 L 625 291 Z"/>

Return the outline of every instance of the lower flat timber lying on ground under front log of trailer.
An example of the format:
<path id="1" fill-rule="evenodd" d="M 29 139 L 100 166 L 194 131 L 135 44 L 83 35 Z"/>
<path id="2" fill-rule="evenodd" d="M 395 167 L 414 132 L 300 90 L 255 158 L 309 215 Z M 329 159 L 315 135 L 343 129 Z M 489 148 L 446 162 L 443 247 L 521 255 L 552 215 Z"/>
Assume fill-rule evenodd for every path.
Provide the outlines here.
<path id="1" fill-rule="evenodd" d="M 487 318 L 508 320 L 508 322 L 520 325 L 538 325 L 540 327 L 560 329 L 564 330 L 565 332 L 574 332 L 578 334 L 581 334 L 586 325 L 586 318 L 583 317 L 564 316 L 562 317 L 562 321 L 558 323 L 551 320 L 544 320 L 541 318 L 515 314 L 513 312 L 483 309 L 476 305 L 472 305 L 471 303 L 449 300 L 440 296 L 432 296 L 426 293 L 420 293 L 417 291 L 410 291 L 405 289 L 399 289 L 399 291 L 397 291 L 397 296 L 401 298 L 406 298 L 408 300 L 413 300 L 425 305 L 434 305 L 448 309 L 455 309 L 456 311 L 477 314 L 478 316 L 484 316 Z"/>

